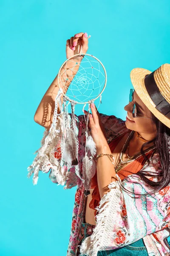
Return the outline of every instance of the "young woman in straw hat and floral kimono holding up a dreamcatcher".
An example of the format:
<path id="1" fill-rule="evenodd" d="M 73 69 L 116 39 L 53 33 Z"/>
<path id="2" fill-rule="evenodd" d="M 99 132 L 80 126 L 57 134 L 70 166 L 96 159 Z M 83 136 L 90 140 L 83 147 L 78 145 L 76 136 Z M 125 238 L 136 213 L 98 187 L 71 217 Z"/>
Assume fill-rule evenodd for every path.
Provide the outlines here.
<path id="1" fill-rule="evenodd" d="M 67 40 L 67 58 L 77 54 L 78 44 L 86 53 L 87 33 Z M 85 191 L 74 167 L 62 166 L 64 188 L 77 186 L 67 256 L 170 255 L 170 64 L 153 73 L 136 68 L 130 77 L 135 90 L 125 106 L 126 121 L 96 112 L 91 104 L 89 129 L 97 149 L 91 188 Z M 56 77 L 34 116 L 47 132 L 58 90 Z M 77 133 L 82 174 L 84 115 L 77 116 Z M 59 143 L 53 154 L 60 162 Z M 61 183 L 49 171 L 51 181 Z"/>

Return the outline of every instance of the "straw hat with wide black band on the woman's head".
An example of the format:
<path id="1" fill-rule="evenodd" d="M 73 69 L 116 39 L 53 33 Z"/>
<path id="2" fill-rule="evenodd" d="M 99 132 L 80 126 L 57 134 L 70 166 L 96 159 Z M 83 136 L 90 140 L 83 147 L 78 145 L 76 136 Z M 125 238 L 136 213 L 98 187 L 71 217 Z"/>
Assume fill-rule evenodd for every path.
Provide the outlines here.
<path id="1" fill-rule="evenodd" d="M 170 64 L 163 64 L 153 72 L 134 68 L 130 79 L 144 105 L 170 128 Z"/>

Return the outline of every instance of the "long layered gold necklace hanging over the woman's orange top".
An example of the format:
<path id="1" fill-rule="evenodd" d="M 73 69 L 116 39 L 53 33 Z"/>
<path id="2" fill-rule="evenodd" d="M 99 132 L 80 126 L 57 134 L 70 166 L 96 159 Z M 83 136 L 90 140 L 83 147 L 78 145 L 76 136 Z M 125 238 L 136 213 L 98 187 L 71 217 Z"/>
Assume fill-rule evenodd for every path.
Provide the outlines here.
<path id="1" fill-rule="evenodd" d="M 123 161 L 122 160 L 122 156 L 123 154 L 125 153 L 126 149 L 129 151 L 129 142 L 131 140 L 131 138 L 133 137 L 133 134 L 134 134 L 135 131 L 131 131 L 129 136 L 127 137 L 124 145 L 123 145 L 123 148 L 122 148 L 122 151 L 120 152 L 119 154 L 119 158 L 118 158 L 118 163 L 117 164 L 114 164 L 114 168 L 115 168 L 115 172 L 117 173 L 119 171 L 119 169 L 122 168 L 122 166 L 126 165 L 127 163 L 129 162 L 133 162 L 134 160 L 138 159 L 140 156 L 142 156 L 141 152 L 133 155 L 133 156 L 129 156 L 128 153 L 127 153 L 127 157 L 129 157 L 129 159 L 127 159 L 126 161 Z M 156 145 L 153 145 L 151 146 L 150 148 L 147 148 L 144 150 L 144 153 L 148 153 L 150 152 L 151 150 L 155 149 L 156 148 Z"/>

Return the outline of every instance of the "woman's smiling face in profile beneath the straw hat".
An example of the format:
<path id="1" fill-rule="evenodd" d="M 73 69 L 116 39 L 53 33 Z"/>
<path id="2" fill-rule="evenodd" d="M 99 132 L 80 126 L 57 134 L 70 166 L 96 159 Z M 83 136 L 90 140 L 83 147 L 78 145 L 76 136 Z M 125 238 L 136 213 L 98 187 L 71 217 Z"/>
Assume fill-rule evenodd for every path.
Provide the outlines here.
<path id="1" fill-rule="evenodd" d="M 137 109 L 137 116 L 142 117 L 151 117 L 150 110 L 144 105 L 142 100 L 137 95 L 136 91 L 133 93 L 133 101 L 130 102 L 125 106 L 125 111 L 127 111 L 127 115 L 132 119 L 134 122 L 129 122 L 127 119 L 125 121 L 125 124 L 128 129 L 137 131 L 139 134 L 151 134 L 156 133 L 156 125 L 153 124 L 152 119 L 148 118 L 141 118 L 141 117 L 134 117 L 132 116 L 132 106 L 133 102 L 136 104 Z"/>

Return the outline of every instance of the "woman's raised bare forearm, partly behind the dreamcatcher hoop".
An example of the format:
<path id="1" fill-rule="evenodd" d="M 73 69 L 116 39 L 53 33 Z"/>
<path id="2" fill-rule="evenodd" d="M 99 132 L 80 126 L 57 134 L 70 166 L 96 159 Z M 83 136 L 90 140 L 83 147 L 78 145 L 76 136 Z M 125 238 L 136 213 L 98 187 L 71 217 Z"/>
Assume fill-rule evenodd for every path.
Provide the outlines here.
<path id="1" fill-rule="evenodd" d="M 72 70 L 73 67 L 74 67 L 74 71 Z M 69 85 L 71 84 L 71 81 L 74 79 L 74 76 L 78 70 L 79 70 L 79 64 L 77 64 L 76 59 L 70 62 L 69 61 L 66 62 L 64 67 L 60 70 L 59 76 L 61 79 L 59 79 L 60 80 L 59 84 L 58 84 L 58 75 L 57 75 L 54 81 L 52 81 L 51 85 L 49 86 L 44 96 L 42 97 L 42 100 L 34 115 L 35 122 L 44 126 L 45 128 L 50 128 L 53 120 L 55 98 L 59 91 L 59 86 L 62 88 L 63 92 L 66 93 Z M 65 84 L 64 87 L 63 87 L 63 84 Z M 62 96 L 61 96 L 61 101 L 62 101 Z M 60 112 L 60 109 L 58 106 L 57 113 L 59 112 Z"/>

